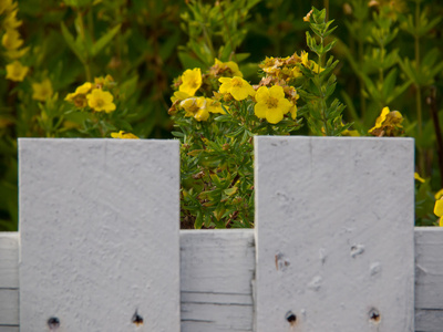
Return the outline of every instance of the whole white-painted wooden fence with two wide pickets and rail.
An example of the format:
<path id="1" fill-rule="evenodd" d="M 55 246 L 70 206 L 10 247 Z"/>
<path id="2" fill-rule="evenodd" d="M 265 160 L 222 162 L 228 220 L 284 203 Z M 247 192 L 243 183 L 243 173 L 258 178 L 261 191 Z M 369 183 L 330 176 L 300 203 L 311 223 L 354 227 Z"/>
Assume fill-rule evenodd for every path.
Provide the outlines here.
<path id="1" fill-rule="evenodd" d="M 0 331 L 443 331 L 412 139 L 256 137 L 255 158 L 254 230 L 179 230 L 177 142 L 21 139 Z"/>

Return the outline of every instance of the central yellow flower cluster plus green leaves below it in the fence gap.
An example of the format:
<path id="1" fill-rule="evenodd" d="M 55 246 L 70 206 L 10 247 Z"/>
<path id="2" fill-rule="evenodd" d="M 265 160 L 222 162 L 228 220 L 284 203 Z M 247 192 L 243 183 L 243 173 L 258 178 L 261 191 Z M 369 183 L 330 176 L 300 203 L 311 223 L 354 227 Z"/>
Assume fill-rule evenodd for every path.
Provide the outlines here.
<path id="1" fill-rule="evenodd" d="M 169 108 L 182 141 L 182 221 L 195 228 L 251 227 L 254 135 L 288 135 L 300 127 L 297 90 L 301 59 L 265 60 L 257 85 L 234 61 L 205 72 L 186 70 Z M 271 68 L 276 70 L 272 70 Z"/>

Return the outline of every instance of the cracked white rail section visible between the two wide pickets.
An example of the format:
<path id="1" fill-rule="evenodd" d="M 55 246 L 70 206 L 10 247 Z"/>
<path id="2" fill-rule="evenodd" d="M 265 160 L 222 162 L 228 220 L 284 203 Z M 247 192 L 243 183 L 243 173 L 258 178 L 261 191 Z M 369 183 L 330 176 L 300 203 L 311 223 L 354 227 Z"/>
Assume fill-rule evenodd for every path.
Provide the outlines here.
<path id="1" fill-rule="evenodd" d="M 253 230 L 182 230 L 181 252 L 182 332 L 253 331 Z"/>

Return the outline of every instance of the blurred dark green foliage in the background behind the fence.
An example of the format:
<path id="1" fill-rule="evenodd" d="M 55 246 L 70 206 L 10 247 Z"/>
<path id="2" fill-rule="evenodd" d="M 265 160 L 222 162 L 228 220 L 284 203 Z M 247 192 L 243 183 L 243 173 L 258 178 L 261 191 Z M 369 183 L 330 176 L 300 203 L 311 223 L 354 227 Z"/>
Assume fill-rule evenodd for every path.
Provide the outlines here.
<path id="1" fill-rule="evenodd" d="M 343 121 L 360 135 L 384 106 L 401 112 L 425 179 L 418 183 L 418 225 L 435 225 L 433 194 L 443 187 L 441 1 L 0 0 L 0 75 L 7 77 L 0 80 L 0 230 L 17 229 L 17 137 L 119 131 L 172 137 L 174 77 L 185 69 L 208 70 L 217 58 L 238 62 L 246 80 L 258 81 L 265 56 L 307 50 L 302 18 L 311 6 L 326 7 L 338 25 L 331 100 L 343 101 Z M 22 68 L 8 73 L 14 61 Z M 116 111 L 65 101 L 106 75 Z M 313 134 L 307 126 L 297 133 Z"/>

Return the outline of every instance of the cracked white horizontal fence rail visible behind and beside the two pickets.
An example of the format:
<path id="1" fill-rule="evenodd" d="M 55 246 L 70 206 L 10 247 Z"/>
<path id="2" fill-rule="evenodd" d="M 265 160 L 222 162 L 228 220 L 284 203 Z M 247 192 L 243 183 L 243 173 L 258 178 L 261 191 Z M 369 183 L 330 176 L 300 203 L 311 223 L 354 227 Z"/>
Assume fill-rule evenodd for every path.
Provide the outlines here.
<path id="1" fill-rule="evenodd" d="M 253 331 L 254 230 L 181 230 L 182 332 Z M 415 228 L 415 331 L 443 331 L 443 229 Z M 19 236 L 0 234 L 0 331 L 19 331 Z"/>

